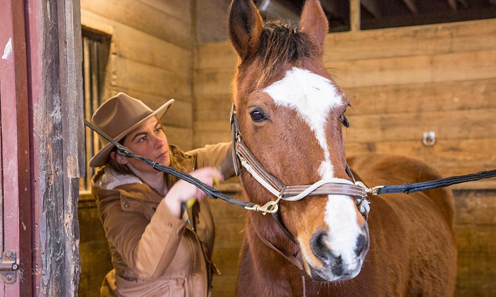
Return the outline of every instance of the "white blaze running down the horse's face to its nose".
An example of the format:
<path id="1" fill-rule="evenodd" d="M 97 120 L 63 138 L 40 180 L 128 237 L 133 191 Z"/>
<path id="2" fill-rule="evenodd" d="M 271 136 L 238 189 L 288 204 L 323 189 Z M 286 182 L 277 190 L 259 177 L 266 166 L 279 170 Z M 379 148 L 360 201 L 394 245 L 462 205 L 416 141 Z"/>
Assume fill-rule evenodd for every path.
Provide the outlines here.
<path id="1" fill-rule="evenodd" d="M 325 136 L 326 120 L 332 108 L 344 104 L 336 87 L 327 78 L 309 70 L 293 67 L 280 81 L 264 90 L 278 106 L 296 110 L 315 134 L 324 151 L 324 160 L 319 166 L 321 179 L 333 178 L 334 170 Z M 327 244 L 344 263 L 354 269 L 356 238 L 361 233 L 357 222 L 355 205 L 347 196 L 332 195 L 326 205 L 325 222 L 330 232 Z"/>

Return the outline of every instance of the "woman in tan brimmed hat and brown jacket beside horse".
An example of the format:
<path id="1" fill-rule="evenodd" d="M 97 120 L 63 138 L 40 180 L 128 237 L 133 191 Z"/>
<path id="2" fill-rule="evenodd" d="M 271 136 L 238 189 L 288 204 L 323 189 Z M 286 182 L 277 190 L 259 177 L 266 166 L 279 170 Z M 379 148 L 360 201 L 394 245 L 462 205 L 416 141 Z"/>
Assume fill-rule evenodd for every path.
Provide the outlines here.
<path id="1" fill-rule="evenodd" d="M 92 123 L 134 153 L 207 185 L 233 176 L 230 143 L 189 152 L 168 144 L 159 119 L 173 101 L 153 111 L 119 93 L 95 111 Z M 204 193 L 100 141 L 103 148 L 90 166 L 103 167 L 93 176 L 91 192 L 114 265 L 101 296 L 210 296 L 215 233 Z"/>

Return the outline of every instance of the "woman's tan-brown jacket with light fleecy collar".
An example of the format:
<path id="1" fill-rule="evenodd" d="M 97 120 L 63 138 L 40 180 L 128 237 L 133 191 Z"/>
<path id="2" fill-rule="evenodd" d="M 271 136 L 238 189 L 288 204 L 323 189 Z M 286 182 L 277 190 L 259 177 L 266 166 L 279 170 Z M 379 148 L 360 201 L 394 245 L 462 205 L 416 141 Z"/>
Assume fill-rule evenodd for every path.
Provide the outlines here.
<path id="1" fill-rule="evenodd" d="M 230 148 L 223 143 L 184 153 L 171 146 L 171 154 L 186 172 L 223 167 L 227 178 L 232 176 Z M 91 192 L 114 265 L 101 296 L 210 296 L 215 230 L 207 199 L 193 205 L 194 232 L 187 212 L 181 219 L 174 216 L 163 197 L 134 175 L 104 167 L 93 177 Z"/>

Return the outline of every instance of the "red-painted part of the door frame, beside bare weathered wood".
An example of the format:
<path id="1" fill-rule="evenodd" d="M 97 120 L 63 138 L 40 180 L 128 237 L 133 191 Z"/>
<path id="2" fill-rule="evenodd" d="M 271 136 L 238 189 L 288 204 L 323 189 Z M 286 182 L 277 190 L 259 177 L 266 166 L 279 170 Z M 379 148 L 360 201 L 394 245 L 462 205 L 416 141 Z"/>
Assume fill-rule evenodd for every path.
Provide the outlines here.
<path id="1" fill-rule="evenodd" d="M 31 147 L 24 1 L 0 1 L 1 251 L 15 251 L 13 283 L 0 296 L 32 295 Z"/>

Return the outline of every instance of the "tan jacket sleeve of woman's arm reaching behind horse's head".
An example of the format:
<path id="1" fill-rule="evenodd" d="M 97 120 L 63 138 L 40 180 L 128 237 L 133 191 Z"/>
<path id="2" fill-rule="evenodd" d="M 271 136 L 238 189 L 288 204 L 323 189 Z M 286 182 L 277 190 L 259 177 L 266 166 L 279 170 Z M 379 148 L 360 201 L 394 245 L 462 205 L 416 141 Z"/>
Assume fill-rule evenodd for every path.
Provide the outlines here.
<path id="1" fill-rule="evenodd" d="M 186 152 L 196 155 L 196 168 L 211 166 L 220 170 L 224 179 L 236 175 L 233 165 L 232 142 L 207 145 Z"/>

